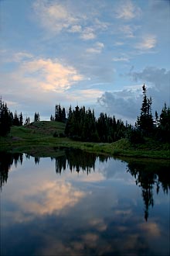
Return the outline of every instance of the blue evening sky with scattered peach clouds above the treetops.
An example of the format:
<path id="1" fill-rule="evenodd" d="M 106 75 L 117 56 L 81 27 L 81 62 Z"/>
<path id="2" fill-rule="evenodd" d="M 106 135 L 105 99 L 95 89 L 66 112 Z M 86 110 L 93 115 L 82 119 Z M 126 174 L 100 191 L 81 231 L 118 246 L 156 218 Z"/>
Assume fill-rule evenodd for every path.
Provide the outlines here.
<path id="1" fill-rule="evenodd" d="M 0 95 L 49 120 L 56 104 L 134 123 L 142 85 L 170 99 L 169 0 L 0 0 Z"/>

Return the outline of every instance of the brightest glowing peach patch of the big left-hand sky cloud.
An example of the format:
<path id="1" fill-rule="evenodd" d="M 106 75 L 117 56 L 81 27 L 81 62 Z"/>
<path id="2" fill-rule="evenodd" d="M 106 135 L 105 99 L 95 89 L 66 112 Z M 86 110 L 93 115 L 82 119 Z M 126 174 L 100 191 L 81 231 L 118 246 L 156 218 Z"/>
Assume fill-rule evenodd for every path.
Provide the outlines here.
<path id="1" fill-rule="evenodd" d="M 35 78 L 39 88 L 43 90 L 64 91 L 83 77 L 75 68 L 64 66 L 58 60 L 37 59 L 27 61 L 20 67 L 21 78 Z"/>

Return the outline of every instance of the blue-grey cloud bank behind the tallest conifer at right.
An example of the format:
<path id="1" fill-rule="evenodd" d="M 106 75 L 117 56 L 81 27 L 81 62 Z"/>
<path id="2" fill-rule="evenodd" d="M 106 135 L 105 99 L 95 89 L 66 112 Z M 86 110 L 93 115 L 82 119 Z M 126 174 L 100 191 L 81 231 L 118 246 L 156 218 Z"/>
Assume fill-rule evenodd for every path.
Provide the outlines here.
<path id="1" fill-rule="evenodd" d="M 169 105 L 170 99 L 170 71 L 165 68 L 145 67 L 143 71 L 130 72 L 128 74 L 135 81 L 141 82 L 141 85 L 130 86 L 119 92 L 104 92 L 98 98 L 98 102 L 103 106 L 104 111 L 122 119 L 128 119 L 134 122 L 140 113 L 142 90 L 141 86 L 145 83 L 148 97 L 152 98 L 152 113 L 155 110 L 161 112 L 164 103 Z"/>

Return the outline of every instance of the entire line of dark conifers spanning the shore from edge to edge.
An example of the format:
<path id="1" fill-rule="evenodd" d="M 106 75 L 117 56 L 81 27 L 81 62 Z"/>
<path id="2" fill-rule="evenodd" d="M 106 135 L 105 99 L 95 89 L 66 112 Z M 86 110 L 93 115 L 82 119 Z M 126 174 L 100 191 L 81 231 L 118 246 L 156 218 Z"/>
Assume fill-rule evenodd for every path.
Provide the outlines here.
<path id="1" fill-rule="evenodd" d="M 152 99 L 147 96 L 147 88 L 142 86 L 143 100 L 141 104 L 140 116 L 134 126 L 129 125 L 115 116 L 107 116 L 107 113 L 100 113 L 97 119 L 94 111 L 86 109 L 85 106 L 76 106 L 70 109 L 66 118 L 66 109 L 60 104 L 55 106 L 54 115 L 50 116 L 51 121 L 66 123 L 63 136 L 74 140 L 111 143 L 121 138 L 128 138 L 131 143 L 140 144 L 144 142 L 145 137 L 153 137 L 163 142 L 170 140 L 170 109 L 163 106 L 160 116 L 155 112 L 153 116 L 151 111 Z M 40 121 L 39 112 L 35 112 L 34 122 Z M 26 117 L 23 123 L 22 112 L 13 115 L 8 109 L 7 104 L 0 99 L 0 136 L 5 136 L 10 132 L 11 126 L 22 126 L 30 123 L 29 117 Z"/>

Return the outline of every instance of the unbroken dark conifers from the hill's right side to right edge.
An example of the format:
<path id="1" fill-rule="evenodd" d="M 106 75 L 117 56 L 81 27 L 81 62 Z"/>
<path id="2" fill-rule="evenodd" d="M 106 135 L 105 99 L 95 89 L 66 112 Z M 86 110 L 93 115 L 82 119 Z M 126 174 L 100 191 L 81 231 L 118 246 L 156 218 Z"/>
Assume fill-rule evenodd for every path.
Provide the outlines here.
<path id="1" fill-rule="evenodd" d="M 153 137 L 163 142 L 170 140 L 170 109 L 163 106 L 160 116 L 155 112 L 155 117 L 151 112 L 151 97 L 147 96 L 145 85 L 142 86 L 143 101 L 141 113 L 138 116 L 134 126 L 125 123 L 115 116 L 107 116 L 106 113 L 100 113 L 98 119 L 95 118 L 91 109 L 85 107 L 69 109 L 66 122 L 65 134 L 75 140 L 93 141 L 93 142 L 114 142 L 121 138 L 128 138 L 131 143 L 140 144 L 144 142 L 145 137 Z"/>

